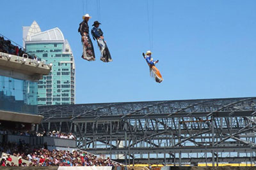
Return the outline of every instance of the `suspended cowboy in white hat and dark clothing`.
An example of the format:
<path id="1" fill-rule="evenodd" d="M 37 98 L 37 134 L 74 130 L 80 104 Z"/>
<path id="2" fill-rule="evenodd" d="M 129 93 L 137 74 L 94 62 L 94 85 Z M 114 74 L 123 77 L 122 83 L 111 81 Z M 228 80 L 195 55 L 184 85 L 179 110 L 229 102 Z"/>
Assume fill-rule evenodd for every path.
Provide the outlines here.
<path id="1" fill-rule="evenodd" d="M 88 20 L 90 20 L 90 15 L 86 13 L 83 16 L 83 22 L 79 24 L 78 32 L 80 32 L 82 36 L 82 43 L 83 43 L 83 55 L 82 58 L 85 60 L 95 60 L 95 53 L 93 49 L 92 40 L 89 35 L 89 26 Z"/>

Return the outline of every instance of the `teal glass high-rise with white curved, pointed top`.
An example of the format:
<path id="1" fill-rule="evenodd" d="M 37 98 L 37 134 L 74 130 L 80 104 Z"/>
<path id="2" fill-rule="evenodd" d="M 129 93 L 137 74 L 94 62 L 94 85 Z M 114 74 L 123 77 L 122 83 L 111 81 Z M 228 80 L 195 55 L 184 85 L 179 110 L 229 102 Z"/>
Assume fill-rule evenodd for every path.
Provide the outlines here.
<path id="1" fill-rule="evenodd" d="M 58 27 L 42 32 L 34 21 L 23 27 L 26 52 L 52 64 L 51 73 L 38 81 L 38 105 L 75 103 L 75 63 L 67 39 Z"/>

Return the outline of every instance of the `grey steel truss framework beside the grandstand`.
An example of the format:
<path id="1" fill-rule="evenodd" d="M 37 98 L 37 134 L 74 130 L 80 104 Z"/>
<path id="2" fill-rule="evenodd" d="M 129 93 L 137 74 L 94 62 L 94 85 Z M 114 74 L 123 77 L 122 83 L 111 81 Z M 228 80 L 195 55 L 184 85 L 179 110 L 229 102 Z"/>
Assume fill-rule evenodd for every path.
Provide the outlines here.
<path id="1" fill-rule="evenodd" d="M 44 131 L 125 164 L 254 162 L 256 97 L 38 107 Z M 40 130 L 38 129 L 38 130 Z"/>

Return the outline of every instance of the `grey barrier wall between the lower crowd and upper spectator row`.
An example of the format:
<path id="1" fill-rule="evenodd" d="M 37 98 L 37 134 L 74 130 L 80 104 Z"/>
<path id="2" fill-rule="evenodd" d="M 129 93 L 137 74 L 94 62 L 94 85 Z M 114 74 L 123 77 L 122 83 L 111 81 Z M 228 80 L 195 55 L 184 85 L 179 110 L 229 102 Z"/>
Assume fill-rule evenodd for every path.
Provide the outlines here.
<path id="1" fill-rule="evenodd" d="M 3 135 L 0 135 L 0 141 L 3 141 Z M 54 138 L 48 136 L 20 136 L 20 135 L 6 135 L 5 142 L 10 143 L 28 143 L 32 146 L 37 145 L 47 145 L 47 146 L 58 146 L 64 148 L 76 148 L 76 140 L 74 139 L 64 139 L 64 138 Z"/>

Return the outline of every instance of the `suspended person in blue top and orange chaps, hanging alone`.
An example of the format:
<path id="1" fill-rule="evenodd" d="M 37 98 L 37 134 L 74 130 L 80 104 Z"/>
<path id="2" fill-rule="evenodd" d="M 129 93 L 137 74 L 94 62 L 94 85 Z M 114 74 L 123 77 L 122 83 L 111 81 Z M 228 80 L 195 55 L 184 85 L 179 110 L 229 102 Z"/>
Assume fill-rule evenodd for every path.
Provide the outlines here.
<path id="1" fill-rule="evenodd" d="M 146 52 L 146 56 L 145 56 L 144 53 L 142 53 L 142 55 L 148 63 L 149 70 L 150 70 L 150 76 L 154 77 L 156 82 L 161 83 L 163 81 L 163 77 L 162 77 L 160 71 L 155 66 L 156 63 L 159 62 L 159 60 L 153 60 L 153 58 L 151 57 L 151 52 L 150 51 Z"/>

